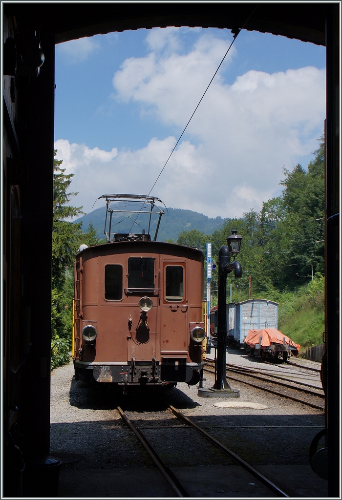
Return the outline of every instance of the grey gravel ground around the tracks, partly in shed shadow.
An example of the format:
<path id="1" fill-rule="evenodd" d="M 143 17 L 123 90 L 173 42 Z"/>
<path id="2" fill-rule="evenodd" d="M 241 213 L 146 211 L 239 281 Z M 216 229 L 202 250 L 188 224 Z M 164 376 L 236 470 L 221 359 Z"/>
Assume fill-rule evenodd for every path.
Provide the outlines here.
<path id="1" fill-rule="evenodd" d="M 300 364 L 305 361 L 300 360 Z M 228 353 L 227 362 L 256 366 L 253 359 L 236 351 Z M 287 367 L 292 369 L 290 365 Z M 284 367 L 279 365 L 276 369 Z M 239 401 L 259 402 L 267 408 L 215 407 L 213 404 L 221 398 L 199 397 L 197 386 L 189 387 L 185 383 L 178 383 L 162 396 L 153 391 L 140 396 L 117 396 L 106 387 L 75 381 L 72 375 L 72 363 L 51 373 L 51 452 L 83 456 L 78 462 L 65 464 L 66 468 L 152 466 L 147 453 L 136 444 L 135 436 L 120 419 L 116 404 L 121 405 L 130 419 L 138 420 L 141 428 L 145 427 L 146 437 L 169 466 L 231 462 L 208 446 L 194 430 L 179 425 L 166 411 L 168 404 L 179 408 L 254 465 L 308 464 L 311 439 L 324 426 L 321 411 L 240 382 L 230 383 L 232 388 L 240 390 Z M 205 377 L 204 386 L 210 387 L 213 375 L 205 373 Z M 170 423 L 177 428 L 164 428 Z M 160 426 L 161 429 L 150 428 Z"/>

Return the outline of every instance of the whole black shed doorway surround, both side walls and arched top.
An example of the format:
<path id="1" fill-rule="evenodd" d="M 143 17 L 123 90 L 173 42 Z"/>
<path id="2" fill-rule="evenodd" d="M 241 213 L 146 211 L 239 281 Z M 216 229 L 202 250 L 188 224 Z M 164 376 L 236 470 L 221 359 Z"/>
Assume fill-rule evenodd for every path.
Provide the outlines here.
<path id="1" fill-rule="evenodd" d="M 27 462 L 39 453 L 49 452 L 54 43 L 152 26 L 212 26 L 235 30 L 246 22 L 254 9 L 255 4 L 250 3 L 4 4 L 3 42 L 7 37 L 14 38 L 23 63 L 18 62 L 16 74 L 5 74 L 3 87 L 3 416 L 4 431 L 14 436 Z M 326 214 L 330 217 L 339 211 L 339 4 L 262 3 L 245 28 L 324 45 L 325 21 Z M 37 40 L 45 54 L 38 76 L 34 74 Z M 14 101 L 11 92 L 15 94 Z M 339 345 L 336 305 L 339 236 L 335 221 L 336 217 L 332 217 L 326 225 L 330 496 L 337 496 L 339 479 L 339 440 L 336 439 L 339 428 L 339 349 L 336 348 Z M 6 438 L 6 449 L 11 453 L 13 444 L 7 435 Z M 12 480 L 14 462 L 10 453 L 6 455 L 9 457 L 7 477 L 10 478 L 7 487 L 15 496 L 17 491 L 13 488 L 20 487 Z"/>

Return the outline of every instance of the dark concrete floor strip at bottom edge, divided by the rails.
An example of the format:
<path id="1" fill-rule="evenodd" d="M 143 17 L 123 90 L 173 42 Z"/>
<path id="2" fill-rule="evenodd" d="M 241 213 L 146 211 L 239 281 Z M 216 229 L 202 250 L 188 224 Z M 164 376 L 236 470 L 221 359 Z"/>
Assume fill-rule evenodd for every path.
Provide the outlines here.
<path id="1" fill-rule="evenodd" d="M 291 497 L 327 497 L 327 481 L 309 465 L 259 465 L 261 473 Z M 268 497 L 274 494 L 237 465 L 172 467 L 192 497 Z M 281 471 L 281 473 L 279 473 Z M 174 497 L 156 467 L 62 469 L 58 497 Z"/>

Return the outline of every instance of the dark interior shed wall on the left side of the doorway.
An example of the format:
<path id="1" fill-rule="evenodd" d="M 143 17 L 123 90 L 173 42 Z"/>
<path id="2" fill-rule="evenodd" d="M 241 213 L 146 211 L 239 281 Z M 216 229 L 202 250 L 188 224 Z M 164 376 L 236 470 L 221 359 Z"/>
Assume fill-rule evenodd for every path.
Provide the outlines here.
<path id="1" fill-rule="evenodd" d="M 21 496 L 20 450 L 26 469 L 49 453 L 54 35 L 34 11 L 3 22 L 4 492 Z"/>

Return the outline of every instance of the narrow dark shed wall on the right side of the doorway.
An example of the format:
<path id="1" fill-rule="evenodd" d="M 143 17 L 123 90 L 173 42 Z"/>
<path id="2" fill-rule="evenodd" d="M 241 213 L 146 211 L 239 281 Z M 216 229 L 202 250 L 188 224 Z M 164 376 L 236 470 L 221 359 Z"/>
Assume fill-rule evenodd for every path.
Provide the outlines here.
<path id="1" fill-rule="evenodd" d="M 328 494 L 338 496 L 340 442 L 340 326 L 339 326 L 339 16 L 340 5 L 330 4 L 326 15 L 326 125 L 325 125 L 325 331 L 327 346 Z"/>

